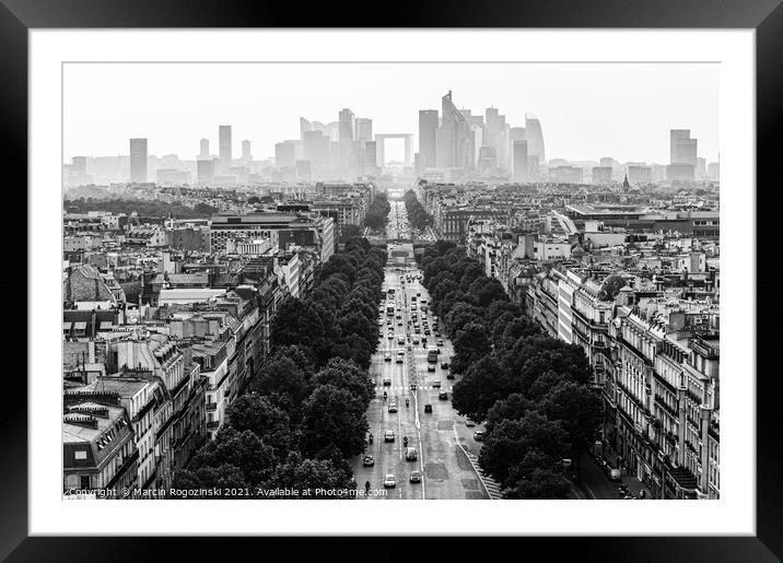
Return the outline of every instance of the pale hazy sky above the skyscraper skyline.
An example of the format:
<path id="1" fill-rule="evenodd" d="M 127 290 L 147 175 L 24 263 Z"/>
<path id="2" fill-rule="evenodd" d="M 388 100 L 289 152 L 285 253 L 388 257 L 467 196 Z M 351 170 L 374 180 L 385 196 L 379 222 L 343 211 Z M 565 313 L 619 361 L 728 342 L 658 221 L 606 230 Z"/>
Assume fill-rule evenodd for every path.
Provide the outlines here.
<path id="1" fill-rule="evenodd" d="M 418 133 L 418 110 L 496 107 L 512 127 L 536 114 L 547 160 L 613 156 L 668 164 L 669 129 L 690 129 L 699 156 L 717 160 L 718 67 L 692 63 L 79 63 L 65 69 L 65 157 L 149 153 L 191 160 L 199 139 L 218 153 L 218 126 L 233 126 L 233 154 L 273 156 L 299 139 L 299 117 L 336 121 L 343 107 L 373 133 Z M 418 139 L 414 140 L 418 145 Z M 401 142 L 386 155 L 401 157 Z"/>

